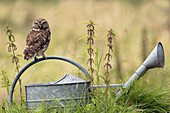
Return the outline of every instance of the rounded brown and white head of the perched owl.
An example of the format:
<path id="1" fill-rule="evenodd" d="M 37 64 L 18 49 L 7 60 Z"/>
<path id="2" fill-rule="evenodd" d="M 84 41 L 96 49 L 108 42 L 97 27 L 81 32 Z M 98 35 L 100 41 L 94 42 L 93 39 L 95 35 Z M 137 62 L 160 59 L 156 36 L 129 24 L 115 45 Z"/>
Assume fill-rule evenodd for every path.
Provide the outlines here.
<path id="1" fill-rule="evenodd" d="M 45 29 L 49 29 L 49 24 L 44 18 L 36 19 L 33 22 L 32 30 L 39 31 L 39 30 L 45 30 Z"/>

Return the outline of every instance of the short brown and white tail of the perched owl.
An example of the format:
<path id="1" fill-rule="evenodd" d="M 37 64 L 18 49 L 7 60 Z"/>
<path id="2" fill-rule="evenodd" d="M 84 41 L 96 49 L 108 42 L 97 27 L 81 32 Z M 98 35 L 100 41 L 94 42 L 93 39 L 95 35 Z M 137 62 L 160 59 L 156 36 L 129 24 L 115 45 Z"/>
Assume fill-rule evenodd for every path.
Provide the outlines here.
<path id="1" fill-rule="evenodd" d="M 26 48 L 24 49 L 23 54 L 24 54 L 24 60 L 27 60 L 27 61 L 28 61 L 30 58 L 34 57 L 35 52 L 32 51 L 29 47 L 26 47 Z"/>

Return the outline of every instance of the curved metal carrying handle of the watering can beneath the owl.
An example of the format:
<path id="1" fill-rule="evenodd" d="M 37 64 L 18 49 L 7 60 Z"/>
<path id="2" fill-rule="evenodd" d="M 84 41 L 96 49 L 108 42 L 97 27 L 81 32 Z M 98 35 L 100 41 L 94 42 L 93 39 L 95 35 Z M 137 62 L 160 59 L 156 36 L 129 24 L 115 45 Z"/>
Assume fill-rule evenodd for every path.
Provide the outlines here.
<path id="1" fill-rule="evenodd" d="M 30 62 L 29 64 L 27 64 L 24 68 L 22 68 L 22 70 L 17 74 L 17 76 L 15 77 L 12 85 L 11 85 L 11 89 L 10 89 L 10 92 L 9 92 L 9 106 L 12 107 L 12 98 L 13 98 L 13 92 L 14 92 L 14 88 L 15 88 L 15 85 L 18 81 L 18 79 L 20 78 L 20 76 L 22 75 L 22 73 L 27 70 L 29 67 L 31 67 L 32 65 L 38 63 L 38 62 L 41 62 L 41 61 L 44 61 L 44 60 L 49 60 L 49 59 L 55 59 L 55 60 L 63 60 L 63 61 L 66 61 L 68 63 L 71 63 L 73 64 L 74 66 L 78 67 L 87 77 L 91 77 L 88 72 L 80 65 L 78 64 L 77 62 L 71 60 L 71 59 L 68 59 L 68 58 L 65 58 L 65 57 L 60 57 L 60 56 L 50 56 L 50 57 L 47 57 L 46 59 L 45 58 L 40 58 L 38 59 L 36 62 L 35 61 L 32 61 Z"/>

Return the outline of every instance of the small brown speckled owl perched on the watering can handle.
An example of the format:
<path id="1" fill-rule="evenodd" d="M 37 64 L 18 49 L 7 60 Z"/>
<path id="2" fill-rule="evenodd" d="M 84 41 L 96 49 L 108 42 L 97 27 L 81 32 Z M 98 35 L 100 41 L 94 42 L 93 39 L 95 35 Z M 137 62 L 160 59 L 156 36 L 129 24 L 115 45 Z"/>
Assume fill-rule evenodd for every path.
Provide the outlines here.
<path id="1" fill-rule="evenodd" d="M 46 58 L 44 52 L 50 43 L 50 35 L 48 22 L 43 18 L 35 20 L 26 39 L 26 47 L 23 52 L 24 59 L 29 60 L 33 57 L 36 61 L 36 56 L 41 55 Z"/>

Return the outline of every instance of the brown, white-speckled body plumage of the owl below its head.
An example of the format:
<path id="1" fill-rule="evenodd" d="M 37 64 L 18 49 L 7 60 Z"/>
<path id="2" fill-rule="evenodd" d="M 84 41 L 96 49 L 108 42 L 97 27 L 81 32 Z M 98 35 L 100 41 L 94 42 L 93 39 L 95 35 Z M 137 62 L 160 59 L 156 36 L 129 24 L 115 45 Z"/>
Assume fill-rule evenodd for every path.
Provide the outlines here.
<path id="1" fill-rule="evenodd" d="M 28 60 L 32 57 L 42 55 L 48 48 L 50 35 L 50 29 L 40 31 L 32 30 L 26 39 L 26 47 L 23 52 L 24 59 Z"/>

